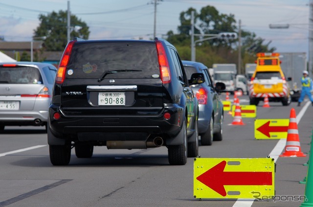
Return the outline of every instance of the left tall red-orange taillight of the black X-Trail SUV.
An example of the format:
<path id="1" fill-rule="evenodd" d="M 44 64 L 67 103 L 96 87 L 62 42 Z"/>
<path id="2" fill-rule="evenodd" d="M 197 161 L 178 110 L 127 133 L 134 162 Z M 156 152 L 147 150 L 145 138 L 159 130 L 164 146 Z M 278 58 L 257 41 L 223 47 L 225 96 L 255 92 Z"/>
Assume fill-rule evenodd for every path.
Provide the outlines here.
<path id="1" fill-rule="evenodd" d="M 61 58 L 61 61 L 59 64 L 59 68 L 58 68 L 58 72 L 57 72 L 57 75 L 55 78 L 56 83 L 61 84 L 64 81 L 65 71 L 67 70 L 67 63 L 69 60 L 69 56 L 70 56 L 70 53 L 72 52 L 73 45 L 76 41 L 77 40 L 73 40 L 73 41 L 68 42 L 67 47 L 65 48 L 65 51 L 62 55 L 62 58 Z"/>

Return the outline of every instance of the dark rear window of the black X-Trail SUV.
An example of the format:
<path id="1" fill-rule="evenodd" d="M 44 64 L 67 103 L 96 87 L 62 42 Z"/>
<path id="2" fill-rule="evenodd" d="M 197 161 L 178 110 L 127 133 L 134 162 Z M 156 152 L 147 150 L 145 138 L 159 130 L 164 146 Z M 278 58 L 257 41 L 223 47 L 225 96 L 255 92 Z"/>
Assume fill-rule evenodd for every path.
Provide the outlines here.
<path id="1" fill-rule="evenodd" d="M 159 77 L 155 42 L 76 42 L 66 78 L 101 78 L 107 71 L 118 70 L 137 71 L 112 73 L 106 78 Z"/>

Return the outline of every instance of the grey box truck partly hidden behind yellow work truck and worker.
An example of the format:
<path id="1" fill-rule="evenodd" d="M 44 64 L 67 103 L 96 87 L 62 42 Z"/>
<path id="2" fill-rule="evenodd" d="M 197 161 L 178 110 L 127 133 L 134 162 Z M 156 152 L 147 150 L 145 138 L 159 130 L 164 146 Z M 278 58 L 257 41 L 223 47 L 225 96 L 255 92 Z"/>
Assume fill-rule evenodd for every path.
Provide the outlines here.
<path id="1" fill-rule="evenodd" d="M 306 53 L 279 53 L 280 67 L 290 86 L 292 101 L 298 101 L 301 94 L 302 71 L 307 70 Z"/>

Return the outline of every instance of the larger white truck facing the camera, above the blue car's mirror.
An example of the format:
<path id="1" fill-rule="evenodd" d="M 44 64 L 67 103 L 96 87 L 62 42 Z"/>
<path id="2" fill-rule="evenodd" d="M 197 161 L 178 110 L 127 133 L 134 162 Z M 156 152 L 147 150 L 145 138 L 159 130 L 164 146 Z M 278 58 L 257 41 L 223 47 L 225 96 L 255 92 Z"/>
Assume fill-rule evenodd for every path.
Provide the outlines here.
<path id="1" fill-rule="evenodd" d="M 226 86 L 225 91 L 234 94 L 236 91 L 236 64 L 213 64 L 214 84 L 223 82 Z"/>

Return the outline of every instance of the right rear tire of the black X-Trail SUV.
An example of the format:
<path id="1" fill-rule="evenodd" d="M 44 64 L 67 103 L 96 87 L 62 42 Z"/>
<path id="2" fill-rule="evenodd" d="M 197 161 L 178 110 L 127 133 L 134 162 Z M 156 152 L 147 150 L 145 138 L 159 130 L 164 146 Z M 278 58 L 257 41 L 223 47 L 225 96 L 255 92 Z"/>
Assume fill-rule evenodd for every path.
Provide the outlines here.
<path id="1" fill-rule="evenodd" d="M 168 161 L 170 165 L 185 165 L 187 162 L 187 125 L 186 120 L 183 123 L 182 129 L 183 133 L 179 133 L 182 135 L 184 143 L 182 145 L 170 145 L 168 146 Z"/>

